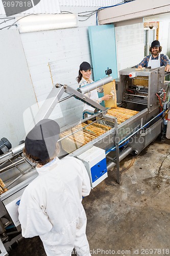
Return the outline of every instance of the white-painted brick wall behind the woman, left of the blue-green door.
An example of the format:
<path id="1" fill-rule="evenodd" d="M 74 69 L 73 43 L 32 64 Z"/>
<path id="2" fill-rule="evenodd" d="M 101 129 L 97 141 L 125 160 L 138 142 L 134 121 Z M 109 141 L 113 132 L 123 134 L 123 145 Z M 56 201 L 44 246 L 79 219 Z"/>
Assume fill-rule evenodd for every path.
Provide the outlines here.
<path id="1" fill-rule="evenodd" d="M 65 7 L 63 9 L 66 10 Z M 69 7 L 67 10 L 75 13 L 83 11 L 82 7 Z M 95 16 L 79 22 L 78 28 L 20 34 L 39 105 L 56 83 L 68 84 L 77 89 L 76 77 L 80 63 L 91 62 L 88 39 L 88 26 L 91 25 L 95 25 Z M 83 103 L 71 98 L 56 106 L 52 116 L 54 119 L 66 116 L 66 119 L 59 121 L 60 126 L 63 126 L 65 120 L 69 123 L 82 118 L 82 112 Z"/>

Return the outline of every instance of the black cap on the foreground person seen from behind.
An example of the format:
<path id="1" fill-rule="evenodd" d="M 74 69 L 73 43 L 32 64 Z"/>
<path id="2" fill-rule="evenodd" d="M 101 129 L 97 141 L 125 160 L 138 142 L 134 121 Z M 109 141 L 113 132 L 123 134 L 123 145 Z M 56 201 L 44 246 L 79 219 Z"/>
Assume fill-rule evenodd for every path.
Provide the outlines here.
<path id="1" fill-rule="evenodd" d="M 54 120 L 39 121 L 26 137 L 26 153 L 35 157 L 36 162 L 53 158 L 59 134 L 60 126 Z"/>

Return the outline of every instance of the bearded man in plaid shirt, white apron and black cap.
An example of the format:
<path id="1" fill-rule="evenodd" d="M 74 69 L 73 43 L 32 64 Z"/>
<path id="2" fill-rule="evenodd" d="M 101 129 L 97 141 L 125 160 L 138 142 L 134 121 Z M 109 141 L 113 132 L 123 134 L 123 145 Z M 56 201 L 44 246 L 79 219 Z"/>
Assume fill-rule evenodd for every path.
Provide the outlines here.
<path id="1" fill-rule="evenodd" d="M 158 40 L 154 40 L 150 47 L 150 52 L 152 54 L 144 57 L 136 68 L 142 69 L 143 67 L 151 67 L 151 69 L 155 69 L 165 66 L 165 71 L 170 72 L 170 60 L 167 55 L 160 53 L 161 51 L 162 47 L 160 46 L 160 42 Z"/>

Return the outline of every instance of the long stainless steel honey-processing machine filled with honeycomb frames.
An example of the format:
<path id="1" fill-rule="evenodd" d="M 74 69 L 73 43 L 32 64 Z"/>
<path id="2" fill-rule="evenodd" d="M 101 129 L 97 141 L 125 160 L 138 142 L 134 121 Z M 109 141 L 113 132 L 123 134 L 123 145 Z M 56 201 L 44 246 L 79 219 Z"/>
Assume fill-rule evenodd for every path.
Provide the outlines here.
<path id="1" fill-rule="evenodd" d="M 106 109 L 85 94 L 112 81 L 108 76 L 74 90 L 56 84 L 30 130 L 39 120 L 48 118 L 57 104 L 68 99 L 81 100 L 95 111 L 85 119 L 61 127 L 60 155 L 81 159 L 89 174 L 91 187 L 107 177 L 116 166 L 116 181 L 120 183 L 119 162 L 128 154 L 138 155 L 162 129 L 163 119 L 170 109 L 169 82 L 164 82 L 164 67 L 157 69 L 125 69 L 116 82 L 117 108 Z M 67 96 L 64 96 L 64 93 Z M 57 121 L 57 120 L 56 120 Z M 18 205 L 26 186 L 37 177 L 35 166 L 22 155 L 24 143 L 0 156 L 0 178 L 4 185 L 0 200 L 0 250 L 8 255 L 12 244 L 21 238 Z"/>

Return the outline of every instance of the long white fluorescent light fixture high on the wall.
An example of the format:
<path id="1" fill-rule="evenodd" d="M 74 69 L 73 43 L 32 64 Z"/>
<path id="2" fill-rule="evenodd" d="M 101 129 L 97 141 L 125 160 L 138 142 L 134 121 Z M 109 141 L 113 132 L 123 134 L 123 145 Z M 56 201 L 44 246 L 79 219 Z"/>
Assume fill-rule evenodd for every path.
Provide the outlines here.
<path id="1" fill-rule="evenodd" d="M 78 27 L 77 14 L 33 14 L 17 16 L 19 33 Z"/>

